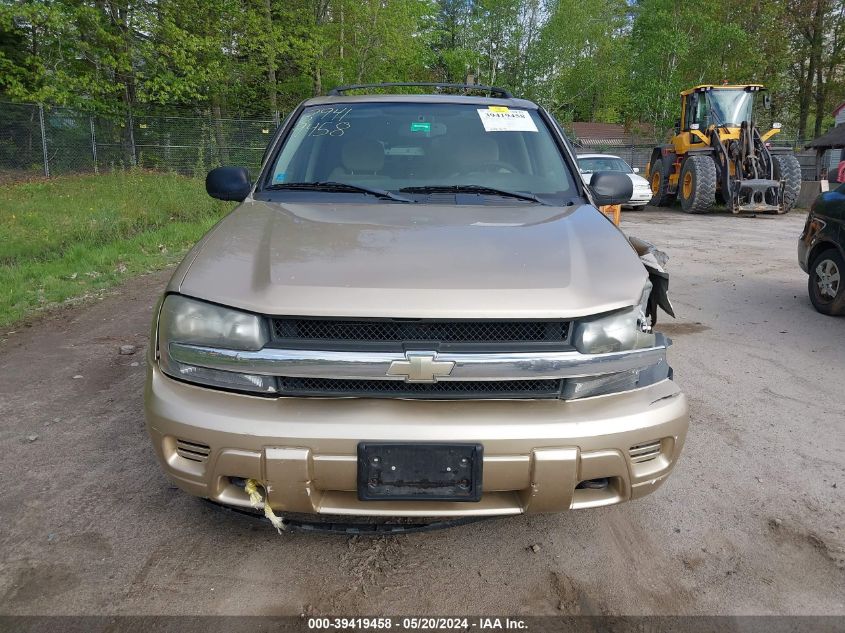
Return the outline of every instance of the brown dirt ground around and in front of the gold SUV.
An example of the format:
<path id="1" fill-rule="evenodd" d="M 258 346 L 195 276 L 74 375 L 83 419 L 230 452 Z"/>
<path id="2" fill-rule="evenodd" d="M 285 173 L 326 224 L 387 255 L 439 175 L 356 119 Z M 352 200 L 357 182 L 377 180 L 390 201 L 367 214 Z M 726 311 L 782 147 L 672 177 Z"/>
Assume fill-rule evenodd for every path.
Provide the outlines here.
<path id="1" fill-rule="evenodd" d="M 0 613 L 845 614 L 845 318 L 810 306 L 803 221 L 625 212 L 671 257 L 692 422 L 666 485 L 599 510 L 280 536 L 154 460 L 118 347 L 166 274 L 2 332 Z"/>

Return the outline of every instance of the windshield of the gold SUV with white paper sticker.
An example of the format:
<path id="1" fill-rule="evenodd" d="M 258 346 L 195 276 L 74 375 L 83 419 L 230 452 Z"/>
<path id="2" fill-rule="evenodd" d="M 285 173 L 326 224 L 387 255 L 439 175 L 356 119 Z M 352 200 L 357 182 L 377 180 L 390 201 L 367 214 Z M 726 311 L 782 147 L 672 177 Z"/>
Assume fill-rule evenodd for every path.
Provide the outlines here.
<path id="1" fill-rule="evenodd" d="M 552 203 L 568 202 L 576 194 L 537 111 L 478 104 L 306 108 L 270 178 L 277 188 L 344 183 L 397 192 L 475 186 L 536 195 Z"/>

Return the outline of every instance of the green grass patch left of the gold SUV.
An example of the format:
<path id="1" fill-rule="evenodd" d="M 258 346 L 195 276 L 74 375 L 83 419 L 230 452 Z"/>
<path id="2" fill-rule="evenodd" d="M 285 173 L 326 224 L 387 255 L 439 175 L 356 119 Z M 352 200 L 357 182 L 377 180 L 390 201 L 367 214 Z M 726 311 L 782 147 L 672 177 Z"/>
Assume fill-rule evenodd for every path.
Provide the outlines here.
<path id="1" fill-rule="evenodd" d="M 143 171 L 0 186 L 0 327 L 178 261 L 232 206 Z"/>

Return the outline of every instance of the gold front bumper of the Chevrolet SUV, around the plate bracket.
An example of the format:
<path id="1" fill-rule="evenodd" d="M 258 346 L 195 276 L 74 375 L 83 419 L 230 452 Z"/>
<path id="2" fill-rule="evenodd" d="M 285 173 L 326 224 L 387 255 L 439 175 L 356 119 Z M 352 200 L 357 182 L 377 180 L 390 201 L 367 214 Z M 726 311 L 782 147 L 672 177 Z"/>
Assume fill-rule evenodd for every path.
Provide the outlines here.
<path id="1" fill-rule="evenodd" d="M 145 409 L 165 473 L 190 494 L 249 507 L 230 478 L 253 478 L 274 510 L 361 516 L 493 516 L 635 499 L 665 481 L 688 425 L 686 398 L 671 380 L 569 402 L 262 398 L 182 383 L 154 362 Z M 483 444 L 481 500 L 360 501 L 364 440 Z M 653 458 L 632 458 L 632 447 L 655 441 Z M 207 457 L 186 459 L 181 442 L 207 447 Z M 609 485 L 576 489 L 598 478 Z"/>

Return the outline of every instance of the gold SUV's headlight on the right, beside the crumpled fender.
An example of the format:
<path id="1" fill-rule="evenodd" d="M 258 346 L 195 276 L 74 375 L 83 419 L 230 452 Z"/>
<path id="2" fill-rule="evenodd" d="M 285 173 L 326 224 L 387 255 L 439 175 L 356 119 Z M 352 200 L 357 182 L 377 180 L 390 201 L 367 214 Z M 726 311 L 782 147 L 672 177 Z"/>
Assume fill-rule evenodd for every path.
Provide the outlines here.
<path id="1" fill-rule="evenodd" d="M 646 318 L 651 288 L 651 282 L 646 282 L 640 303 L 633 308 L 578 321 L 572 333 L 575 349 L 582 354 L 605 354 L 653 347 L 654 333 Z"/>

